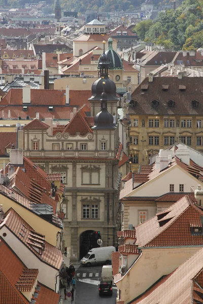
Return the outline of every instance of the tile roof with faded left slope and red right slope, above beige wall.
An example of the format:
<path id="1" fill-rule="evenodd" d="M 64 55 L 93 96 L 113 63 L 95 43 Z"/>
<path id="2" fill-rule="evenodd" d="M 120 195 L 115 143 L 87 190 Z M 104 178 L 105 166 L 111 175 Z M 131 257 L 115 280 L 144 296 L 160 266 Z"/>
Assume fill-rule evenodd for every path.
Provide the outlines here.
<path id="1" fill-rule="evenodd" d="M 139 247 L 203 245 L 203 236 L 192 235 L 190 224 L 199 222 L 203 212 L 188 196 L 136 227 Z"/>

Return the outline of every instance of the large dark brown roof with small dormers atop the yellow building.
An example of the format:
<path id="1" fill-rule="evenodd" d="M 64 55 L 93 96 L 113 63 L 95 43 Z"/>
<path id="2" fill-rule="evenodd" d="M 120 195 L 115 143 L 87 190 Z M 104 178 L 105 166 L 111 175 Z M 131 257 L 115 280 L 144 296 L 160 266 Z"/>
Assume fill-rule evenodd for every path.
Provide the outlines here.
<path id="1" fill-rule="evenodd" d="M 148 90 L 143 92 L 141 87 L 148 84 Z M 168 85 L 168 90 L 163 91 L 162 85 Z M 179 86 L 185 86 L 181 91 Z M 131 99 L 137 101 L 136 106 L 128 108 L 128 114 L 136 115 L 202 115 L 203 104 L 201 94 L 203 90 L 202 77 L 154 77 L 153 82 L 146 78 L 136 88 Z M 144 94 L 143 94 L 144 93 Z M 158 100 L 158 107 L 152 106 L 152 101 Z M 174 100 L 175 106 L 168 107 L 168 101 Z M 198 106 L 192 107 L 192 100 L 198 100 Z"/>

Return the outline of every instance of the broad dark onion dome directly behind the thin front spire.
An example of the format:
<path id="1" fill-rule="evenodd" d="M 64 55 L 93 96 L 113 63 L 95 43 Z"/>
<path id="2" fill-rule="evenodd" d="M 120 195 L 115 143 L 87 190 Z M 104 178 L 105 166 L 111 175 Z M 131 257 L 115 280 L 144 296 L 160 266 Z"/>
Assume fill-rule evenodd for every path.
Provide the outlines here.
<path id="1" fill-rule="evenodd" d="M 101 93 L 103 92 L 103 82 L 105 81 L 105 91 L 108 96 L 108 100 L 119 100 L 116 95 L 116 85 L 115 83 L 109 78 L 99 78 L 92 84 L 92 96 L 89 100 L 100 100 Z"/>

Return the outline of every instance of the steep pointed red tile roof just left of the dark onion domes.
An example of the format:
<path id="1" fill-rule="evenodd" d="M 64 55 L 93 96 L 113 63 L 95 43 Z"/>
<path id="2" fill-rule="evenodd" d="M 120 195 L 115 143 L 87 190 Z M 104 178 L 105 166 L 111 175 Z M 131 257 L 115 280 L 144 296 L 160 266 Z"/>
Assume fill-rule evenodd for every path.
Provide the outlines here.
<path id="1" fill-rule="evenodd" d="M 77 133 L 82 136 L 92 133 L 92 129 L 89 127 L 85 117 L 86 114 L 81 108 L 76 112 L 70 123 L 66 125 L 62 133 L 69 133 L 71 136 L 75 136 Z"/>

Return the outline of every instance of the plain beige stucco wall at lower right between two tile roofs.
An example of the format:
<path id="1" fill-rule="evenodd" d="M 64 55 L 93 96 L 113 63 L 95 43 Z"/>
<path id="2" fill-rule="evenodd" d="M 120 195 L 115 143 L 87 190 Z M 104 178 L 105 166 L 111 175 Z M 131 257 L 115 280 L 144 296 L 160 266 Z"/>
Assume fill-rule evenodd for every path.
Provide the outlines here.
<path id="1" fill-rule="evenodd" d="M 203 247 L 203 246 L 202 246 Z M 166 249 L 143 249 L 142 255 L 133 264 L 122 280 L 116 282 L 121 289 L 121 300 L 133 300 L 163 275 L 168 275 L 201 247 Z"/>

